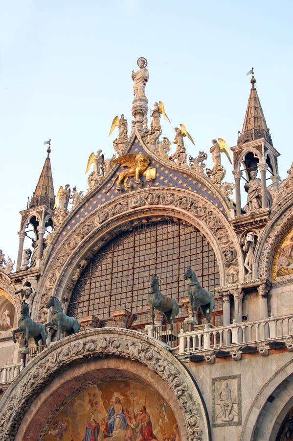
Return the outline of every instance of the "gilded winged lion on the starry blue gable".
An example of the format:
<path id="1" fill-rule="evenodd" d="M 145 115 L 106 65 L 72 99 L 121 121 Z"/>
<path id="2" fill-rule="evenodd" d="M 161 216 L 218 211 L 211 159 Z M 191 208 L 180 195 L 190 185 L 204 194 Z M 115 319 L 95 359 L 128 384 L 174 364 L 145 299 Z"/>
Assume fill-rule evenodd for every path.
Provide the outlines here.
<path id="1" fill-rule="evenodd" d="M 117 186 L 121 186 L 123 181 L 124 187 L 127 188 L 127 180 L 129 177 L 135 176 L 136 181 L 139 180 L 139 175 L 146 171 L 150 164 L 150 158 L 139 152 L 137 155 L 134 153 L 127 153 L 126 155 L 119 156 L 119 158 L 113 160 L 113 164 L 120 164 L 121 167 L 129 167 L 127 170 L 120 172 L 113 181 L 113 184 L 107 190 L 107 193 L 112 189 L 115 181 L 117 181 Z"/>

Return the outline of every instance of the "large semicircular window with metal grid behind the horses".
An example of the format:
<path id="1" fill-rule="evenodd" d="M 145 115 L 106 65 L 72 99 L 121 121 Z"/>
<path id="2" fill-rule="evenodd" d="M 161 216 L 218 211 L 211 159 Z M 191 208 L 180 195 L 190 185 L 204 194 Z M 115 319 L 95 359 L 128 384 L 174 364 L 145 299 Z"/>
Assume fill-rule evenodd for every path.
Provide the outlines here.
<path id="1" fill-rule="evenodd" d="M 71 295 L 68 314 L 108 319 L 113 311 L 147 310 L 152 273 L 162 294 L 187 297 L 184 272 L 190 266 L 203 287 L 214 293 L 220 285 L 215 253 L 200 231 L 181 222 L 140 224 L 121 233 L 92 258 Z M 180 309 L 180 316 L 185 311 Z"/>

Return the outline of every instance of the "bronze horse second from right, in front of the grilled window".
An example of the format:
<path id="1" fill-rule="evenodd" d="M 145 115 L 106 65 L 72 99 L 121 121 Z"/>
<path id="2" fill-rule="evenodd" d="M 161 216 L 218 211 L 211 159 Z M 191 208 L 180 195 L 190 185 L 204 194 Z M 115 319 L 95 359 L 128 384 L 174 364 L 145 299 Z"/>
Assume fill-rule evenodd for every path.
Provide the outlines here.
<path id="1" fill-rule="evenodd" d="M 168 323 L 175 323 L 175 317 L 179 313 L 178 303 L 174 298 L 167 297 L 167 295 L 163 295 L 160 292 L 157 274 L 152 274 L 148 301 L 151 308 L 151 317 L 153 324 L 155 324 L 154 308 L 165 314 Z"/>

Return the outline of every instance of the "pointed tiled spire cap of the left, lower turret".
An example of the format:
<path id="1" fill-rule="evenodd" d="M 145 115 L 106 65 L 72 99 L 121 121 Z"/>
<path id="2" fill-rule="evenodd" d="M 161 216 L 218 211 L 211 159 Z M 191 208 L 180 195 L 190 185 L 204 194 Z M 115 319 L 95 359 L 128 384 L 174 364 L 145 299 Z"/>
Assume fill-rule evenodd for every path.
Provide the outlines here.
<path id="1" fill-rule="evenodd" d="M 54 206 L 55 195 L 50 161 L 50 141 L 51 140 L 45 141 L 44 143 L 49 145 L 47 148 L 47 157 L 45 159 L 45 164 L 37 183 L 36 190 L 31 198 L 29 208 L 46 205 L 48 208 L 53 209 Z"/>

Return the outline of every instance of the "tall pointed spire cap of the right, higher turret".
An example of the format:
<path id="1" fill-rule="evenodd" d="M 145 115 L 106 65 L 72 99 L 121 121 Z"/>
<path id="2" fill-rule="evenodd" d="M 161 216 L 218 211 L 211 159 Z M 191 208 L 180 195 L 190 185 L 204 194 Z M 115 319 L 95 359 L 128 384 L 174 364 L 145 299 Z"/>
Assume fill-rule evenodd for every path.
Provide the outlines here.
<path id="1" fill-rule="evenodd" d="M 257 95 L 255 88 L 256 79 L 254 78 L 254 75 L 252 75 L 250 83 L 252 84 L 252 87 L 248 98 L 248 106 L 246 109 L 242 132 L 238 137 L 237 145 L 241 145 L 248 141 L 253 141 L 259 138 L 265 138 L 272 146 L 270 129 L 268 129 L 264 112 Z"/>

